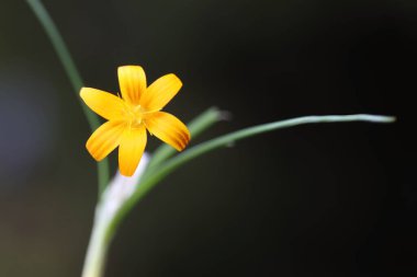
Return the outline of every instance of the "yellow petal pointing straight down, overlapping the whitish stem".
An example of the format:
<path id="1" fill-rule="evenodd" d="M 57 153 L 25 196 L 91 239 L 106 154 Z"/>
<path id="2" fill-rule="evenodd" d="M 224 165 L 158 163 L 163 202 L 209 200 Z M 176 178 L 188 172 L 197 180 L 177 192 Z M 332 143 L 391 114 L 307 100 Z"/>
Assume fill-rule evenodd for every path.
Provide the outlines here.
<path id="1" fill-rule="evenodd" d="M 146 128 L 140 125 L 123 132 L 119 147 L 119 168 L 124 176 L 132 176 L 139 164 L 146 146 Z"/>

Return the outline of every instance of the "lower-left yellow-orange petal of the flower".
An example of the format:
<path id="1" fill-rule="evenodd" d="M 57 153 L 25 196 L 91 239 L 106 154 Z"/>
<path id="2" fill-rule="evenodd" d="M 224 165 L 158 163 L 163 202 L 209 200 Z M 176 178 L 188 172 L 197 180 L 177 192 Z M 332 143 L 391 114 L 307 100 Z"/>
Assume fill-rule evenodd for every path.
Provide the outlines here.
<path id="1" fill-rule="evenodd" d="M 112 120 L 101 125 L 88 139 L 87 150 L 97 161 L 103 160 L 120 145 L 126 126 L 123 120 Z"/>

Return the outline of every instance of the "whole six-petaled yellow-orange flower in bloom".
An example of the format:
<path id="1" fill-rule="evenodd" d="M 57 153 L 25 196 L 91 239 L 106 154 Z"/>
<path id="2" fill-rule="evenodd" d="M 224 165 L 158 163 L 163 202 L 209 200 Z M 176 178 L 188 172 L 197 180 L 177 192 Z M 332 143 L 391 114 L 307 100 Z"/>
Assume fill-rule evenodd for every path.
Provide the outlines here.
<path id="1" fill-rule="evenodd" d="M 122 175 L 132 176 L 144 153 L 146 129 L 178 151 L 190 140 L 187 126 L 171 114 L 160 112 L 178 93 L 182 83 L 174 74 L 166 74 L 149 86 L 144 69 L 124 66 L 117 70 L 122 97 L 109 92 L 82 88 L 81 99 L 98 115 L 108 119 L 88 139 L 87 150 L 101 161 L 119 146 Z"/>

